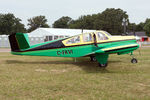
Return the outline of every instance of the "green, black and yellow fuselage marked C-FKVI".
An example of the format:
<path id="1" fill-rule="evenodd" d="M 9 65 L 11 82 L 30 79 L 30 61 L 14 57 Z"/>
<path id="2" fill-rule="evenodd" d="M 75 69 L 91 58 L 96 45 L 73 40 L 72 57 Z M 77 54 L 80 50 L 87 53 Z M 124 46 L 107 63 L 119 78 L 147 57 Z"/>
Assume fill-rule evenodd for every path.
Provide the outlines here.
<path id="1" fill-rule="evenodd" d="M 12 51 L 15 55 L 82 57 L 96 53 L 127 54 L 139 48 L 134 36 L 111 36 L 105 31 L 79 34 Z"/>

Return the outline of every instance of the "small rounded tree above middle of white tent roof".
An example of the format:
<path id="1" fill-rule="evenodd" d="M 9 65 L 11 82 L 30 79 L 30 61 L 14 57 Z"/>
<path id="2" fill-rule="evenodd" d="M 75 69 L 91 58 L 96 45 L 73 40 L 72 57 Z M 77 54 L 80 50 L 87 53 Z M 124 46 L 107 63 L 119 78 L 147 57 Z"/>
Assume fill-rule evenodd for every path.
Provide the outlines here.
<path id="1" fill-rule="evenodd" d="M 63 16 L 56 20 L 53 24 L 54 28 L 69 28 L 69 23 L 72 19 L 68 16 Z"/>

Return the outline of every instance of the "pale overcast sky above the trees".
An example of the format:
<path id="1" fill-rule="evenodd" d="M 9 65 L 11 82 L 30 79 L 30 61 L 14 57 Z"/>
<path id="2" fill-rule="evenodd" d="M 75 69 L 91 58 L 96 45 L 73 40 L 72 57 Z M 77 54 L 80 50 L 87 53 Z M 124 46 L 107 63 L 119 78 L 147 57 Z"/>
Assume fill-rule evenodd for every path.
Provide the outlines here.
<path id="1" fill-rule="evenodd" d="M 81 15 L 97 14 L 106 8 L 127 11 L 130 22 L 150 18 L 150 0 L 0 0 L 0 13 L 13 13 L 27 25 L 27 19 L 45 15 L 48 24 L 62 16 L 77 19 Z"/>

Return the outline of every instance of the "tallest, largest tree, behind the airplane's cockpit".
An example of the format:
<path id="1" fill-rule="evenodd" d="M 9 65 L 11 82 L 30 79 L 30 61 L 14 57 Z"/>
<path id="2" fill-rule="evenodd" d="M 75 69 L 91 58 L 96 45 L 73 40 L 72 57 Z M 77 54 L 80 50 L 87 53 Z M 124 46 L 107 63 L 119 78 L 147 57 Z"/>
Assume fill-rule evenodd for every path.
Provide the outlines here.
<path id="1" fill-rule="evenodd" d="M 123 32 L 123 18 L 128 20 L 128 15 L 125 11 L 121 9 L 108 8 L 97 15 L 94 22 L 94 28 L 105 30 L 112 34 L 120 34 Z"/>

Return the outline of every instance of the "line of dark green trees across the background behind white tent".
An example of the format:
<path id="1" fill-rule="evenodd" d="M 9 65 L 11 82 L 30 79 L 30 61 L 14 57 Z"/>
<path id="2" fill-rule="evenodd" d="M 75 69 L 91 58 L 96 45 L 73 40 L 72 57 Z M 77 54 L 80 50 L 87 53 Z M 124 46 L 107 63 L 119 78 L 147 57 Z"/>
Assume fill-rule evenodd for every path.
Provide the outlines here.
<path id="1" fill-rule="evenodd" d="M 78 19 L 72 19 L 69 16 L 62 16 L 56 20 L 52 27 L 54 28 L 70 28 L 70 29 L 94 29 L 105 30 L 111 34 L 123 33 L 123 19 L 128 22 L 127 31 L 145 31 L 150 36 L 150 19 L 147 18 L 145 22 L 139 24 L 130 23 L 129 16 L 126 11 L 122 9 L 107 8 L 105 11 L 92 14 L 82 15 Z M 31 32 L 39 27 L 49 28 L 48 20 L 45 16 L 35 16 L 28 19 L 29 28 L 21 23 L 21 19 L 16 18 L 13 14 L 0 14 L 0 34 L 11 33 L 26 33 Z"/>

